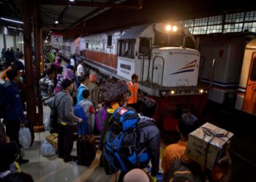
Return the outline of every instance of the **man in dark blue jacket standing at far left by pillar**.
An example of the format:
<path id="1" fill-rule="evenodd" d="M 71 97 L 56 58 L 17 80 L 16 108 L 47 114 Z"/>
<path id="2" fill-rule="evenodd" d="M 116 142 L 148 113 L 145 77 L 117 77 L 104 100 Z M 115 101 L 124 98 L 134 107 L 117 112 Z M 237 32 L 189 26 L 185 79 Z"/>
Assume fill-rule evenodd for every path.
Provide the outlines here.
<path id="1" fill-rule="evenodd" d="M 19 74 L 16 70 L 7 71 L 7 77 L 10 82 L 4 84 L 4 103 L 6 103 L 4 121 L 6 122 L 7 135 L 11 141 L 15 141 L 20 151 L 20 143 L 18 139 L 20 127 L 24 127 L 23 106 L 21 104 L 18 82 Z M 18 159 L 20 164 L 29 162 L 22 159 L 21 155 Z"/>

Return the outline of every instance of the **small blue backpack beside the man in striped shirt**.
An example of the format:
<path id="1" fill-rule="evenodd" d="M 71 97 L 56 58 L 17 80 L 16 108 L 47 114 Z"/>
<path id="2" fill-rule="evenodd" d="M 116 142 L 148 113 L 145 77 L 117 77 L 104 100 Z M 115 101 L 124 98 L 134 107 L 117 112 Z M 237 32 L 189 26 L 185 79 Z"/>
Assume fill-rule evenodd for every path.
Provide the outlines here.
<path id="1" fill-rule="evenodd" d="M 83 111 L 83 107 L 79 104 L 74 106 L 74 114 L 75 116 L 80 117 L 82 119 L 81 123 L 78 123 L 78 135 L 89 135 L 91 134 L 91 126 L 87 121 L 86 112 Z"/>

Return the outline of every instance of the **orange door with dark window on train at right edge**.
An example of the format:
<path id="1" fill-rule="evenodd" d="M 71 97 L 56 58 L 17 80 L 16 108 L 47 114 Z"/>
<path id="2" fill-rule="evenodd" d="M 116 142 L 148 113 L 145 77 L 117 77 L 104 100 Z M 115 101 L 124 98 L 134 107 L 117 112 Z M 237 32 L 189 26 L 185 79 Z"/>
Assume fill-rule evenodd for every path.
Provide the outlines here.
<path id="1" fill-rule="evenodd" d="M 243 111 L 256 114 L 256 52 L 252 54 Z"/>

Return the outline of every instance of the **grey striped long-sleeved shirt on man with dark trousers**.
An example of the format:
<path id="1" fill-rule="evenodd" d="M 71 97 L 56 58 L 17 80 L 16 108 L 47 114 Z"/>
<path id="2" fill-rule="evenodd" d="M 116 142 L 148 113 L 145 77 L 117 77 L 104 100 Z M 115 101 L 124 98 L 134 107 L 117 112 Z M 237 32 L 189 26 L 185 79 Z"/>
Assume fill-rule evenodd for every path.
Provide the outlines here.
<path id="1" fill-rule="evenodd" d="M 58 92 L 56 93 L 55 99 L 55 106 L 58 105 L 57 110 L 59 123 L 66 122 L 73 124 L 74 122 L 79 122 L 79 117 L 74 115 L 73 99 L 68 93 Z"/>

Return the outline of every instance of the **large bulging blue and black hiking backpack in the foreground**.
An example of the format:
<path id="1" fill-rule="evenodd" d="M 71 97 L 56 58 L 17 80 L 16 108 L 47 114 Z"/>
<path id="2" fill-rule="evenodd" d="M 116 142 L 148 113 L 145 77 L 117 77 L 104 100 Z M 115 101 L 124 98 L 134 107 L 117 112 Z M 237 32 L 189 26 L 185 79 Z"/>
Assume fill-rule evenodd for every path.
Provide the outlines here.
<path id="1" fill-rule="evenodd" d="M 139 149 L 140 130 L 147 124 L 139 124 L 140 118 L 130 107 L 116 109 L 110 119 L 110 128 L 105 138 L 103 155 L 116 171 L 127 172 L 149 162 L 146 147 Z"/>

